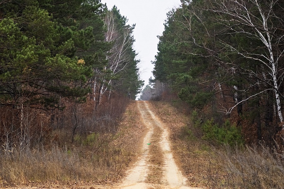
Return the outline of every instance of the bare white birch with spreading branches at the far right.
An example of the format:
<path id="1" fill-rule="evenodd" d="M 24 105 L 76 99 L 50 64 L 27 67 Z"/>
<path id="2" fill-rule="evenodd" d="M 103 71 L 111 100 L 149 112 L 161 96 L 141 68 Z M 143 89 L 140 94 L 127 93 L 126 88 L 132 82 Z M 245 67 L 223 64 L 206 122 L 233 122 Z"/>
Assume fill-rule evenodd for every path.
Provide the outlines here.
<path id="1" fill-rule="evenodd" d="M 265 85 L 265 90 L 260 92 L 273 90 L 277 115 L 279 121 L 283 122 L 281 103 L 283 95 L 280 87 L 283 84 L 284 35 L 281 27 L 282 18 L 276 12 L 276 8 L 280 7 L 279 3 L 280 1 L 277 0 L 214 0 L 205 10 L 217 15 L 217 19 L 214 21 L 223 25 L 226 29 L 224 32 L 226 35 L 242 34 L 246 36 L 248 41 L 256 41 L 259 44 L 256 48 L 242 48 L 219 39 L 222 47 L 232 53 L 237 53 L 244 58 L 244 61 L 253 60 L 256 62 L 255 69 L 247 69 L 248 67 L 242 67 L 234 62 L 226 63 L 231 67 L 240 69 L 248 76 L 254 76 L 257 79 L 255 85 L 261 83 Z M 257 94 L 248 98 L 254 95 Z M 284 129 L 283 126 L 282 129 Z"/>

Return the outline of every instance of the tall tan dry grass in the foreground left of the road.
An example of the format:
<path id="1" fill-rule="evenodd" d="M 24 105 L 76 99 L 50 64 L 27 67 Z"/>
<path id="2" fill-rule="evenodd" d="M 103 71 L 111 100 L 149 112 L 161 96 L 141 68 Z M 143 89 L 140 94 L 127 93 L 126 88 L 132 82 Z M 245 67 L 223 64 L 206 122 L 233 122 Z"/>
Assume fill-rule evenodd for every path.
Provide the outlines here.
<path id="1" fill-rule="evenodd" d="M 2 152 L 0 183 L 115 180 L 129 163 L 131 154 L 124 146 L 112 145 L 113 137 L 101 137 L 92 148 L 60 149 L 54 146 L 50 150 Z"/>

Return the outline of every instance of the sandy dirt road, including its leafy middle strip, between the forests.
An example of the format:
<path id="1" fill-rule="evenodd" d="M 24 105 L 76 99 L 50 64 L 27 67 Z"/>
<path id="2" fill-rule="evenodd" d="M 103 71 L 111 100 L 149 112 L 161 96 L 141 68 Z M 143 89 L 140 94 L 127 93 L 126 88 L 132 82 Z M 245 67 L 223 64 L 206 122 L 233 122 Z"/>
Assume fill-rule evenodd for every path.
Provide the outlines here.
<path id="1" fill-rule="evenodd" d="M 186 178 L 182 176 L 173 159 L 167 128 L 153 114 L 146 101 L 137 101 L 137 106 L 141 114 L 141 122 L 148 131 L 142 140 L 138 161 L 128 171 L 128 176 L 117 188 L 191 189 L 192 187 L 186 186 Z M 152 148 L 151 145 L 155 148 Z M 153 157 L 158 157 L 158 159 Z M 155 164 L 155 161 L 160 164 Z M 156 172 L 153 174 L 153 171 Z M 153 183 L 153 180 L 156 182 Z"/>

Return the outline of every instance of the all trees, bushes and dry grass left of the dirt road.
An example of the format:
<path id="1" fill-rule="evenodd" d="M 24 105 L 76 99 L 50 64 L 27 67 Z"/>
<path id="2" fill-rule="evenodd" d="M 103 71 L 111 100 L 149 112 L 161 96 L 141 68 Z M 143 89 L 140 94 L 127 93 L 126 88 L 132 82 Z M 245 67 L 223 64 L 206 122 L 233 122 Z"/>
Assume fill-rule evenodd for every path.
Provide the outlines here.
<path id="1" fill-rule="evenodd" d="M 134 28 L 100 0 L 0 1 L 0 187 L 122 175 Z"/>

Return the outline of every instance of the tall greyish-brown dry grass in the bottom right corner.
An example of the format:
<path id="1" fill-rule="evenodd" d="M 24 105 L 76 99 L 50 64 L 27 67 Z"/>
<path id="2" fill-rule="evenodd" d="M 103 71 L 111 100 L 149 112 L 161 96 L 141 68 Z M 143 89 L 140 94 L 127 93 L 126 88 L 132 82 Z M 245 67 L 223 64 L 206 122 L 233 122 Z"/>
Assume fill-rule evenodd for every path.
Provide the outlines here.
<path id="1" fill-rule="evenodd" d="M 213 188 L 284 188 L 284 154 L 260 145 L 215 150 L 213 164 L 222 172 L 208 172 Z M 212 174 L 213 173 L 213 174 Z"/>

